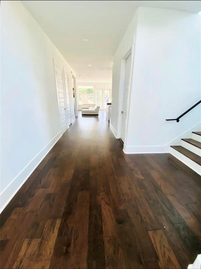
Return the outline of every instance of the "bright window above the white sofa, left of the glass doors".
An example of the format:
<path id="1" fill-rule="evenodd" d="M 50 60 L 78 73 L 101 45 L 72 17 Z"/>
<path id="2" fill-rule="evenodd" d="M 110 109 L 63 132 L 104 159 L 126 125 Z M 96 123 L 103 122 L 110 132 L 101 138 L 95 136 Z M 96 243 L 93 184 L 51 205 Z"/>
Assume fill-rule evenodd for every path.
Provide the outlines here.
<path id="1" fill-rule="evenodd" d="M 95 97 L 95 94 L 94 94 L 93 87 L 86 87 L 86 86 L 78 87 L 79 105 L 94 104 L 94 100 L 95 100 L 94 97 Z"/>

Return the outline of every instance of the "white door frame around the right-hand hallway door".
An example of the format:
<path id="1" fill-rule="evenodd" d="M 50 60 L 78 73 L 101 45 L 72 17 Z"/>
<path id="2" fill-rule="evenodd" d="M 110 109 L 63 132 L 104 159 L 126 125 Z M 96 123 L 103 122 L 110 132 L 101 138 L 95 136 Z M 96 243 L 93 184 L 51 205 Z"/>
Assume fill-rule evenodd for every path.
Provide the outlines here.
<path id="1" fill-rule="evenodd" d="M 133 73 L 134 42 L 133 42 L 133 45 L 124 54 L 121 61 L 117 138 L 121 138 L 121 132 L 122 132 L 122 113 L 121 112 L 122 112 L 122 107 L 123 107 L 123 96 L 124 96 L 124 86 L 125 86 L 126 59 L 128 58 L 130 54 L 131 54 L 131 67 L 130 67 L 130 78 L 129 78 L 129 83 L 128 83 L 128 109 L 127 109 L 127 116 L 126 116 L 125 141 L 124 141 L 123 151 L 127 144 L 128 115 L 130 111 L 130 93 L 131 93 L 131 87 L 132 87 L 132 73 Z"/>

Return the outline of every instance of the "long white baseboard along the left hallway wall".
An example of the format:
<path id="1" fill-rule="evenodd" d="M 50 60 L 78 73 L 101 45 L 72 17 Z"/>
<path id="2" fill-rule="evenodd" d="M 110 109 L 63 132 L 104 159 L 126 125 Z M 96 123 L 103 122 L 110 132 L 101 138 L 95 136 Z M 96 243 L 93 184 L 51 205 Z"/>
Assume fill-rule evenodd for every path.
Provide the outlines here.
<path id="1" fill-rule="evenodd" d="M 41 149 L 41 151 L 22 169 L 19 174 L 8 184 L 8 186 L 0 193 L 0 213 L 11 201 L 14 195 L 19 191 L 24 182 L 33 173 L 35 168 L 40 164 L 40 162 L 45 158 L 47 153 L 53 148 L 57 143 L 59 138 L 63 135 L 58 132 L 52 140 Z"/>

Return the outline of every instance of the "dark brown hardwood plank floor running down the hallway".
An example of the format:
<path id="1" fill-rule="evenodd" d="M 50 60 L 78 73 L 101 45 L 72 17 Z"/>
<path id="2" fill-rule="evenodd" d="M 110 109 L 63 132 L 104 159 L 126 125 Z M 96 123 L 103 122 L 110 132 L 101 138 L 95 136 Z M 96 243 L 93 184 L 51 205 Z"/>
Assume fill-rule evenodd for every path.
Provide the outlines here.
<path id="1" fill-rule="evenodd" d="M 100 111 L 63 134 L 1 214 L 1 268 L 187 268 L 201 253 L 201 177 L 122 151 Z"/>

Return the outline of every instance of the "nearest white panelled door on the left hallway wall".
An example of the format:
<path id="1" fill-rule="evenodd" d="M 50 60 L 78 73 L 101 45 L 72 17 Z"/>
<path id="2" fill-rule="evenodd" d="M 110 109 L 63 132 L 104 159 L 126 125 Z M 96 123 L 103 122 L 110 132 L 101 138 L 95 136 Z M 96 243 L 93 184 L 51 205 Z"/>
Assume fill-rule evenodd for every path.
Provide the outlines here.
<path id="1" fill-rule="evenodd" d="M 67 129 L 67 115 L 65 107 L 65 94 L 64 94 L 64 85 L 63 85 L 63 71 L 57 65 L 55 67 L 55 80 L 57 86 L 57 97 L 59 105 L 59 118 L 61 123 L 62 133 Z"/>

